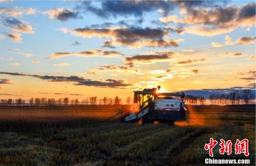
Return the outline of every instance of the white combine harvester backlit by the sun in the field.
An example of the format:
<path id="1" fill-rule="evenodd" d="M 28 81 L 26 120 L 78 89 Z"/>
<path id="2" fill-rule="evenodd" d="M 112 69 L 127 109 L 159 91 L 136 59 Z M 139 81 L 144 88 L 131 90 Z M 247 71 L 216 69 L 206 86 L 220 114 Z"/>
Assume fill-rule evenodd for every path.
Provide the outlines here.
<path id="1" fill-rule="evenodd" d="M 134 103 L 140 104 L 140 110 L 130 112 L 121 118 L 124 122 L 135 122 L 142 118 L 142 123 L 154 121 L 172 123 L 186 120 L 187 109 L 184 106 L 185 94 L 159 92 L 161 86 L 152 89 L 134 91 Z"/>

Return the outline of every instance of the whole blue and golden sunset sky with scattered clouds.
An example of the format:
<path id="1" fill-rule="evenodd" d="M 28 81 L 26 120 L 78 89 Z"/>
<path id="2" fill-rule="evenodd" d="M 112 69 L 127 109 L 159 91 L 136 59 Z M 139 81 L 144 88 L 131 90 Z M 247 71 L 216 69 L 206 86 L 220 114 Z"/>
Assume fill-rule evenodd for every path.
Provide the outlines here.
<path id="1" fill-rule="evenodd" d="M 255 89 L 255 6 L 0 0 L 0 98 Z"/>

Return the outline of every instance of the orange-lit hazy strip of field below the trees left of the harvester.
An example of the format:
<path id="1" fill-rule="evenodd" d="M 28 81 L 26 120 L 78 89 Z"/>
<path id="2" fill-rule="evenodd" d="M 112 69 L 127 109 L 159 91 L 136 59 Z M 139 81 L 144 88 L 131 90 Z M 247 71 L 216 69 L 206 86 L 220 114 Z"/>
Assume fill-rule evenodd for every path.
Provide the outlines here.
<path id="1" fill-rule="evenodd" d="M 0 120 L 64 120 L 64 119 L 99 119 L 115 120 L 121 116 L 119 110 L 137 110 L 135 105 L 107 106 L 51 106 L 51 107 L 0 107 Z"/>

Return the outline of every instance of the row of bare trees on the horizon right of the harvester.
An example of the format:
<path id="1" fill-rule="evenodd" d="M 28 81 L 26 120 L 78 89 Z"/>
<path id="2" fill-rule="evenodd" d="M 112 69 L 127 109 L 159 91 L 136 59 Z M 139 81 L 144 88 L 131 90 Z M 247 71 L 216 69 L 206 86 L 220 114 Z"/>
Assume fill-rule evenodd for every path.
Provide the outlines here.
<path id="1" fill-rule="evenodd" d="M 229 94 L 212 94 L 209 96 L 211 105 L 238 105 L 249 104 L 255 99 L 254 94 L 250 89 L 244 89 L 242 92 L 234 90 Z M 206 98 L 204 96 L 186 95 L 184 102 L 189 105 L 204 105 Z"/>

